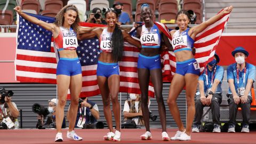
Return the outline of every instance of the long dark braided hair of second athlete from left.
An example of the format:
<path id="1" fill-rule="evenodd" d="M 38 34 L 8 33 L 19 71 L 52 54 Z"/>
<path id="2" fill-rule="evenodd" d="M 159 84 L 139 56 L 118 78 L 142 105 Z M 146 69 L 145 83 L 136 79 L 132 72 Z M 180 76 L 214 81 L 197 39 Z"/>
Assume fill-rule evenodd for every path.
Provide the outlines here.
<path id="1" fill-rule="evenodd" d="M 105 17 L 107 16 L 107 13 L 114 12 L 116 14 L 117 18 L 117 12 L 115 10 L 109 10 L 105 13 Z M 118 25 L 115 25 L 115 29 L 112 34 L 111 38 L 111 47 L 113 47 L 112 50 L 112 56 L 114 62 L 118 62 L 122 59 L 123 56 L 123 50 L 124 50 L 124 37 L 122 30 L 119 29 Z"/>

